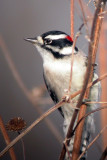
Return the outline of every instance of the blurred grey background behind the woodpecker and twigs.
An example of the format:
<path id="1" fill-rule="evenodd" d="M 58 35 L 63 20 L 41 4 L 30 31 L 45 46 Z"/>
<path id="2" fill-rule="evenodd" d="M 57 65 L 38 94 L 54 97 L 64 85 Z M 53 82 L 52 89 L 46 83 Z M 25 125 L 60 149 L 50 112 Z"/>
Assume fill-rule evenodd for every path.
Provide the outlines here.
<path id="1" fill-rule="evenodd" d="M 94 4 L 85 9 L 94 13 Z M 75 3 L 75 33 L 83 23 L 78 1 Z M 35 37 L 49 30 L 61 30 L 70 34 L 69 0 L 2 0 L 0 1 L 0 116 L 4 124 L 14 117 L 22 117 L 27 126 L 44 111 L 53 106 L 45 92 L 42 59 L 36 49 L 24 38 Z M 85 29 L 77 41 L 77 46 L 88 51 Z M 41 104 L 38 99 L 41 97 Z M 36 96 L 36 98 L 34 98 Z M 33 97 L 33 98 L 32 98 Z M 38 97 L 38 99 L 37 99 Z M 34 100 L 35 99 L 35 100 Z M 105 98 L 106 99 L 106 98 Z M 100 114 L 96 113 L 99 132 Z M 57 160 L 63 142 L 63 118 L 58 111 L 39 123 L 24 138 L 26 160 Z M 9 132 L 12 140 L 18 134 Z M 100 144 L 100 145 L 99 145 Z M 88 153 L 89 159 L 98 159 L 102 153 L 101 138 Z M 0 151 L 6 146 L 0 133 Z M 21 141 L 14 146 L 17 160 L 23 159 Z M 10 160 L 6 153 L 2 160 Z"/>

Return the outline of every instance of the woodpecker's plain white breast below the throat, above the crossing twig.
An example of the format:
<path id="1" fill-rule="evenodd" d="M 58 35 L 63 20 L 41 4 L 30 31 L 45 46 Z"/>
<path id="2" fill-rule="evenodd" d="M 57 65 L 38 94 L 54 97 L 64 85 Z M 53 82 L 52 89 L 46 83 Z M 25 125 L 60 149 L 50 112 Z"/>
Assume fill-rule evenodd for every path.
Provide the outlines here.
<path id="1" fill-rule="evenodd" d="M 77 55 L 78 56 L 78 55 Z M 84 65 L 85 59 L 83 56 L 77 57 L 75 55 L 73 62 L 73 74 L 72 74 L 72 86 L 71 93 L 79 90 L 83 85 L 84 74 L 86 66 Z M 79 58 L 79 59 L 78 59 Z M 54 61 L 44 62 L 44 75 L 47 83 L 55 91 L 58 99 L 61 100 L 64 96 L 64 90 L 68 89 L 70 71 L 71 71 L 71 60 L 70 59 L 58 59 Z"/>

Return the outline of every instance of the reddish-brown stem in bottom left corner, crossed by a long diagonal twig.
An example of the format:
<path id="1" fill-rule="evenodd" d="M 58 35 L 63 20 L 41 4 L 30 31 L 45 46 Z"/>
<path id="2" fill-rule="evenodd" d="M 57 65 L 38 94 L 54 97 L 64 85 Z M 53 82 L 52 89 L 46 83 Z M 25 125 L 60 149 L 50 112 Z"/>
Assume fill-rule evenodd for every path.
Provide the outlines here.
<path id="1" fill-rule="evenodd" d="M 4 139 L 5 139 L 5 142 L 6 142 L 6 144 L 8 145 L 8 144 L 10 143 L 10 138 L 9 138 L 9 136 L 8 136 L 8 134 L 7 134 L 7 131 L 6 131 L 6 129 L 5 129 L 5 125 L 4 125 L 4 123 L 3 123 L 3 120 L 2 120 L 2 118 L 1 118 L 1 116 L 0 116 L 0 129 L 1 129 L 1 132 L 2 132 L 3 137 L 4 137 Z M 10 148 L 9 153 L 10 153 L 11 159 L 12 159 L 12 160 L 16 160 L 16 155 L 15 155 L 15 152 L 14 152 L 14 149 L 13 149 L 13 148 Z"/>

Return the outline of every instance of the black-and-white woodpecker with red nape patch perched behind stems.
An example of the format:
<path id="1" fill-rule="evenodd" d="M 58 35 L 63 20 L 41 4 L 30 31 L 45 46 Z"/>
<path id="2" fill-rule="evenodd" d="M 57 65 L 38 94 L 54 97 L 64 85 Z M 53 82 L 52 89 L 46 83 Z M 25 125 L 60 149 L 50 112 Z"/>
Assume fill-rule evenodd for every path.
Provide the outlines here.
<path id="1" fill-rule="evenodd" d="M 26 38 L 25 40 L 32 43 L 42 57 L 44 81 L 50 97 L 55 104 L 62 100 L 62 97 L 66 95 L 66 91 L 69 87 L 72 50 L 74 55 L 70 94 L 82 89 L 88 57 L 76 46 L 73 49 L 73 39 L 70 35 L 62 31 L 53 30 L 34 38 Z M 97 78 L 98 76 L 94 71 L 93 80 Z M 89 96 L 90 101 L 98 101 L 100 88 L 100 83 L 95 84 L 91 88 Z M 79 96 L 80 95 L 74 97 L 71 103 L 66 103 L 59 108 L 59 111 L 64 118 L 63 131 L 65 136 Z M 96 104 L 87 105 L 87 112 L 96 109 L 96 107 Z M 85 119 L 80 154 L 86 149 L 90 142 L 91 135 L 94 132 L 94 116 L 91 114 Z M 72 155 L 73 144 L 74 137 L 70 140 L 70 144 L 68 146 L 70 155 Z M 81 160 L 85 160 L 86 157 L 87 155 L 85 154 Z M 65 160 L 69 160 L 67 153 Z"/>

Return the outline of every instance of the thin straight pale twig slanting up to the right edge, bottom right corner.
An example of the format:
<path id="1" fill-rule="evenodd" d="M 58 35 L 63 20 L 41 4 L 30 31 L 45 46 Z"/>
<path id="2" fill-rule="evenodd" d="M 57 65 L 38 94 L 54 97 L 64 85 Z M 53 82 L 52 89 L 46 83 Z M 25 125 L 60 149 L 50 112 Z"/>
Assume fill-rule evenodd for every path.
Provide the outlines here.
<path id="1" fill-rule="evenodd" d="M 107 129 L 107 125 L 98 133 L 98 135 L 93 139 L 93 141 L 86 147 L 77 160 L 80 160 L 85 152 L 95 143 L 95 141 L 101 136 L 101 134 Z"/>

